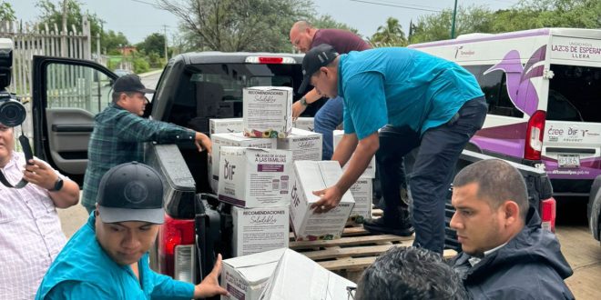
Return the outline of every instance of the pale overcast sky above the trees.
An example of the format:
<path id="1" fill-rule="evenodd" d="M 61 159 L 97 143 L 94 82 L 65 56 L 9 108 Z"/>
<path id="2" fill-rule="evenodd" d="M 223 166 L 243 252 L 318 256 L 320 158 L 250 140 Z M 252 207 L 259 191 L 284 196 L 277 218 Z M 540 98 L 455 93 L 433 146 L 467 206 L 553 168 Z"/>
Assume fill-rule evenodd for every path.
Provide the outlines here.
<path id="1" fill-rule="evenodd" d="M 55 3 L 62 0 L 52 0 Z M 155 0 L 78 0 L 84 11 L 97 14 L 106 21 L 105 30 L 126 35 L 131 44 L 142 42 L 153 33 L 167 29 L 168 39 L 178 32 L 178 18 L 156 8 Z M 179 0 L 182 1 L 182 0 Z M 403 31 L 408 33 L 410 20 L 420 15 L 435 14 L 453 9 L 455 0 L 313 0 L 320 15 L 331 15 L 334 20 L 350 25 L 363 37 L 372 36 L 378 26 L 390 16 L 397 18 Z M 484 5 L 492 10 L 509 8 L 519 0 L 456 0 L 458 5 Z M 34 21 L 40 15 L 37 0 L 0 0 L 15 9 L 17 18 Z M 434 11 L 434 12 L 433 12 Z M 166 25 L 167 27 L 164 27 Z"/>

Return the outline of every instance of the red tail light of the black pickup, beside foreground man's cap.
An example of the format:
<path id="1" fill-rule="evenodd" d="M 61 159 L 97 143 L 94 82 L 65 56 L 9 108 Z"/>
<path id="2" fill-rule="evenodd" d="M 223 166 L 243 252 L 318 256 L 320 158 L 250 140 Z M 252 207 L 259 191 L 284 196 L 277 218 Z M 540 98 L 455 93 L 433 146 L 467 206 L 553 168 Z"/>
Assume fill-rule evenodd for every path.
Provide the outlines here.
<path id="1" fill-rule="evenodd" d="M 165 215 L 158 231 L 158 271 L 174 279 L 196 283 L 194 220 Z"/>

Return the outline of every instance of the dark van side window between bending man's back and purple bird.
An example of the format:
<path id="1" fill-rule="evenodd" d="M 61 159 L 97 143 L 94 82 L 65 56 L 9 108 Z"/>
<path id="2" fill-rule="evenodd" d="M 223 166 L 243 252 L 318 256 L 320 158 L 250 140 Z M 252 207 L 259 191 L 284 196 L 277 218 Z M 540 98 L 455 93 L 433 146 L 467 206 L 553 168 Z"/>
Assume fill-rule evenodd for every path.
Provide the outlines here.
<path id="1" fill-rule="evenodd" d="M 472 73 L 478 85 L 482 88 L 486 103 L 488 103 L 488 114 L 504 115 L 522 118 L 521 112 L 509 98 L 507 94 L 507 84 L 505 74 L 502 70 L 495 70 L 484 75 L 484 72 L 493 65 L 463 65 L 463 67 Z"/>

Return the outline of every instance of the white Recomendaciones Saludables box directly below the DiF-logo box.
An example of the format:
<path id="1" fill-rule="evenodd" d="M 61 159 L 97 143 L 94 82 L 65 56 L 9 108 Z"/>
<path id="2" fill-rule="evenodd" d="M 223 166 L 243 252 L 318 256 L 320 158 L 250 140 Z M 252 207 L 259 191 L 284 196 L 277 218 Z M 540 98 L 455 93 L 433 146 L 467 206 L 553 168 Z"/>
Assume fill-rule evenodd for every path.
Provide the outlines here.
<path id="1" fill-rule="evenodd" d="M 290 205 L 269 208 L 232 207 L 232 255 L 252 255 L 288 248 Z"/>

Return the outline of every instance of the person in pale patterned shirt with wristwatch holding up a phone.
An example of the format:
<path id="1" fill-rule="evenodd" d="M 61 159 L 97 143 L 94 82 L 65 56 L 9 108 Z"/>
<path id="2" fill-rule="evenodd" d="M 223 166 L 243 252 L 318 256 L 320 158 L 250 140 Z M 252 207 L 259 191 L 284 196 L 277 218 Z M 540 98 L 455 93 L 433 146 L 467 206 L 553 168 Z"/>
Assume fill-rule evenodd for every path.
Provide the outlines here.
<path id="1" fill-rule="evenodd" d="M 26 164 L 28 163 L 28 164 Z M 0 123 L 0 168 L 13 185 L 0 185 L 0 299 L 32 299 L 66 243 L 56 207 L 79 201 L 79 186 L 36 158 L 15 151 L 12 126 Z"/>

